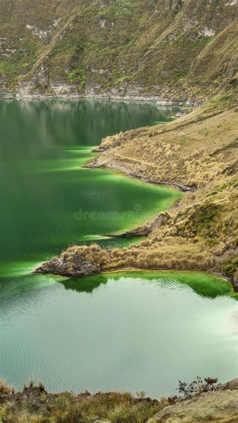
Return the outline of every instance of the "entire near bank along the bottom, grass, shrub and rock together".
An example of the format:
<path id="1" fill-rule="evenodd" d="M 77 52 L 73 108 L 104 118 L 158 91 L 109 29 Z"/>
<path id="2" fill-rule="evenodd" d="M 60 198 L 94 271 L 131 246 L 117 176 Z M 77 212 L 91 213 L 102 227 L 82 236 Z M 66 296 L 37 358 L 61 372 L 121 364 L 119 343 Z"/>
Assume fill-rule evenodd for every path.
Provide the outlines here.
<path id="1" fill-rule="evenodd" d="M 47 392 L 42 381 L 34 385 L 30 379 L 29 387 L 24 384 L 23 391 L 16 392 L 11 386 L 1 381 L 0 416 L 3 421 L 44 421 L 50 423 L 52 417 L 64 412 L 64 421 L 81 421 L 90 423 L 112 423 L 113 421 L 145 421 L 147 423 L 231 423 L 238 419 L 238 379 L 224 384 L 217 384 L 217 379 L 197 378 L 191 385 L 192 393 L 182 396 L 164 396 L 160 400 L 146 397 L 138 392 L 101 392 L 93 394 L 86 390 L 78 395 L 72 392 Z M 180 384 L 180 388 L 183 384 Z M 191 386 L 190 385 L 190 386 Z M 182 388 L 183 389 L 183 388 Z M 11 407 L 9 406 L 11 404 Z M 116 407 L 123 407 L 121 417 L 110 418 Z M 14 410 L 13 417 L 11 412 Z M 22 412 L 24 420 L 21 419 Z M 134 417 L 131 418 L 132 411 Z M 128 416 L 125 415 L 127 413 Z M 141 414 L 142 413 L 142 414 Z M 143 420 L 141 420 L 143 415 Z M 55 420 L 54 421 L 59 421 Z M 61 420 L 60 420 L 61 421 Z"/>

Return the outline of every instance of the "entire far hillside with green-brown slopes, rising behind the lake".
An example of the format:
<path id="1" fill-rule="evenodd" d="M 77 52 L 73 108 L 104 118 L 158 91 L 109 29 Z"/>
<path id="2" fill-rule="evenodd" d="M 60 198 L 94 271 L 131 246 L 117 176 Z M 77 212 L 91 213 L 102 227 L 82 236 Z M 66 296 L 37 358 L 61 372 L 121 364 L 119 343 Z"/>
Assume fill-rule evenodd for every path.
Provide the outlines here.
<path id="1" fill-rule="evenodd" d="M 199 104 L 235 74 L 236 2 L 0 0 L 0 81 L 20 95 Z"/>

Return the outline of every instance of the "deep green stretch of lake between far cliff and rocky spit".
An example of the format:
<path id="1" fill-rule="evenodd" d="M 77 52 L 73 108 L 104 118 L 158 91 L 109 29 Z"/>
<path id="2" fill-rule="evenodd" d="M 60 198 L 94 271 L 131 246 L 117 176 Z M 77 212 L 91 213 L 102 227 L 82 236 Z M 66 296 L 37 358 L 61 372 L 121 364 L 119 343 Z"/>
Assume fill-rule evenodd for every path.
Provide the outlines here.
<path id="1" fill-rule="evenodd" d="M 0 273 L 16 268 L 16 262 L 48 260 L 70 243 L 90 243 L 144 220 L 143 215 L 134 221 L 77 220 L 79 210 L 121 216 L 140 202 L 141 212 L 153 215 L 169 207 L 180 196 L 176 190 L 82 166 L 95 156 L 88 146 L 101 137 L 168 120 L 172 113 L 155 104 L 123 101 L 0 101 L 0 255 L 5 261 Z"/>

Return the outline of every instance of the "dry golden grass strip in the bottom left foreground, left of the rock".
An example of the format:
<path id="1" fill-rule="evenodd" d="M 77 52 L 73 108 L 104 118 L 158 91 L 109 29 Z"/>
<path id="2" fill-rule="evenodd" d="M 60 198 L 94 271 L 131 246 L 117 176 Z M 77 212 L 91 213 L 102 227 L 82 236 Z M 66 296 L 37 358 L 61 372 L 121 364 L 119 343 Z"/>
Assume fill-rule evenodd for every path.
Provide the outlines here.
<path id="1" fill-rule="evenodd" d="M 24 393 L 8 395 L 4 403 L 0 403 L 0 421 L 86 423 L 95 421 L 95 416 L 98 416 L 98 420 L 112 423 L 144 423 L 166 404 L 166 398 L 159 402 L 150 398 L 136 398 L 130 392 L 92 395 L 85 391 L 75 396 L 69 392 L 47 394 L 32 387 Z"/>

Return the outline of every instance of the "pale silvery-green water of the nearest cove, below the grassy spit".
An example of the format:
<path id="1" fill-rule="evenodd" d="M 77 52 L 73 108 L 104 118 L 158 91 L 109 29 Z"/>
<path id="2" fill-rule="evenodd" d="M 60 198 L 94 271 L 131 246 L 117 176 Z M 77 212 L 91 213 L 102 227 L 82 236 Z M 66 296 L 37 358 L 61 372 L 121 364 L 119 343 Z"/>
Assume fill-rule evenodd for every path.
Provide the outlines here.
<path id="1" fill-rule="evenodd" d="M 189 272 L 2 281 L 0 373 L 20 387 L 34 375 L 53 391 L 144 389 L 153 397 L 198 374 L 232 379 L 229 290 L 223 279 Z"/>

